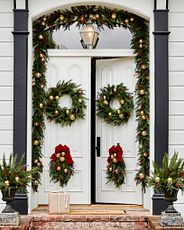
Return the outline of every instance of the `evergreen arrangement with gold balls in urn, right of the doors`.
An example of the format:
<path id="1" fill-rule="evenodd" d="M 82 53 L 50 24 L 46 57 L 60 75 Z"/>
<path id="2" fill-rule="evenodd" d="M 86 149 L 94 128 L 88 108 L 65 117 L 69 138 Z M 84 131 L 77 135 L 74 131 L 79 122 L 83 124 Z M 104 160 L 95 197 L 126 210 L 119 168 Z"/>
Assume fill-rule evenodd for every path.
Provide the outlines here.
<path id="1" fill-rule="evenodd" d="M 166 213 L 177 213 L 173 202 L 177 200 L 178 191 L 184 191 L 184 160 L 174 152 L 169 160 L 167 153 L 164 154 L 161 167 L 153 162 L 154 172 L 148 178 L 147 184 L 158 192 L 163 192 L 165 200 L 169 203 Z"/>

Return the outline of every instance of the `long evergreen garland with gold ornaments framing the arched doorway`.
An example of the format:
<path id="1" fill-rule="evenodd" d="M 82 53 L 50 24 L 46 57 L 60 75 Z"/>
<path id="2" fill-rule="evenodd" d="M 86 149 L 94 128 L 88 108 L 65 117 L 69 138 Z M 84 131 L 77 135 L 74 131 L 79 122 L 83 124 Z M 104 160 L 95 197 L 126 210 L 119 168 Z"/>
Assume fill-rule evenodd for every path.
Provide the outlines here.
<path id="1" fill-rule="evenodd" d="M 41 165 L 41 146 L 44 139 L 44 112 L 46 105 L 46 63 L 48 62 L 48 48 L 50 37 L 54 30 L 67 30 L 73 23 L 77 27 L 91 20 L 99 29 L 104 26 L 109 29 L 122 27 L 132 33 L 131 48 L 135 54 L 136 84 L 136 117 L 137 140 L 139 142 L 137 183 L 146 187 L 149 175 L 149 32 L 145 19 L 118 9 L 103 6 L 75 6 L 71 9 L 58 10 L 49 15 L 43 15 L 33 22 L 33 116 L 32 116 L 32 167 Z M 40 167 L 40 173 L 42 167 Z M 37 191 L 40 183 L 40 173 L 33 181 L 33 190 Z"/>

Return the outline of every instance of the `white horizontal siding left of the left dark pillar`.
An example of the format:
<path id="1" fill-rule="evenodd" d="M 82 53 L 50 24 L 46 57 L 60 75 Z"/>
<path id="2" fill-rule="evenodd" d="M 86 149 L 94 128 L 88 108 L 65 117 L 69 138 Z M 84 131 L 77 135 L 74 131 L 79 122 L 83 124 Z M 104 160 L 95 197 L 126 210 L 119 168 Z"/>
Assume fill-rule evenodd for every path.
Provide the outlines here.
<path id="1" fill-rule="evenodd" d="M 0 0 L 0 159 L 3 153 L 8 157 L 13 151 L 12 9 L 12 0 Z M 0 198 L 0 211 L 3 206 Z"/>

